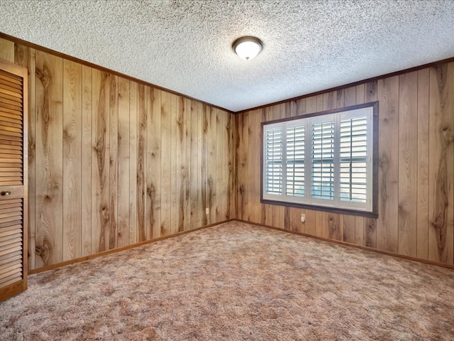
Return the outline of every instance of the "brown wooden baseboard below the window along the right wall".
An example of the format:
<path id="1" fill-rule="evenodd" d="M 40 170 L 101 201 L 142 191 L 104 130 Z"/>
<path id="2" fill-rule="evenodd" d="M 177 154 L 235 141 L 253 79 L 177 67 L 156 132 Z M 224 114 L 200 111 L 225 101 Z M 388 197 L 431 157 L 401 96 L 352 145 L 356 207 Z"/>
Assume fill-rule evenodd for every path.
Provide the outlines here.
<path id="1" fill-rule="evenodd" d="M 274 227 L 274 226 L 270 226 L 270 225 L 260 224 L 258 222 L 248 222 L 247 220 L 240 220 L 240 219 L 233 219 L 233 220 L 236 220 L 237 222 L 245 222 L 246 224 L 251 224 L 251 225 L 255 225 L 255 226 L 266 227 L 268 229 L 277 229 L 278 231 L 287 232 L 287 233 L 291 233 L 291 234 L 297 234 L 297 235 L 303 236 L 303 237 L 309 237 L 309 238 L 313 238 L 313 239 L 323 240 L 323 242 L 339 244 L 339 245 L 343 245 L 345 247 L 354 247 L 355 249 L 361 249 L 361 250 L 365 250 L 365 251 L 372 251 L 372 252 L 375 252 L 377 254 L 386 254 L 387 256 L 393 256 L 393 257 L 400 258 L 400 259 L 406 259 L 408 261 L 416 261 L 418 263 L 434 265 L 434 266 L 440 266 L 442 268 L 454 270 L 454 265 L 444 264 L 444 263 L 441 263 L 441 262 L 438 262 L 438 261 L 429 261 L 428 259 L 421 259 L 421 258 L 416 258 L 416 257 L 412 257 L 412 256 L 406 256 L 404 254 L 397 254 L 397 253 L 391 252 L 391 251 L 384 251 L 384 250 L 374 249 L 373 247 L 363 247 L 362 245 L 356 245 L 356 244 L 352 244 L 352 243 L 348 243 L 348 242 L 343 242 L 341 240 L 328 239 L 328 238 L 323 238 L 323 237 L 316 237 L 316 236 L 313 236 L 311 234 L 306 234 L 306 233 L 296 232 L 296 231 L 289 231 L 288 229 L 282 229 L 280 227 Z"/>

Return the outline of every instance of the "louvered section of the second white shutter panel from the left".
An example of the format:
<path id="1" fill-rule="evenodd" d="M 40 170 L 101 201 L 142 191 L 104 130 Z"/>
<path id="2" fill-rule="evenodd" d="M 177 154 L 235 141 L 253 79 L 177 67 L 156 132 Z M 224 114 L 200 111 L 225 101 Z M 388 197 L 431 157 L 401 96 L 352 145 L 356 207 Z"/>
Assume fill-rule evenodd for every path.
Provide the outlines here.
<path id="1" fill-rule="evenodd" d="M 304 197 L 305 126 L 287 128 L 286 194 Z"/>

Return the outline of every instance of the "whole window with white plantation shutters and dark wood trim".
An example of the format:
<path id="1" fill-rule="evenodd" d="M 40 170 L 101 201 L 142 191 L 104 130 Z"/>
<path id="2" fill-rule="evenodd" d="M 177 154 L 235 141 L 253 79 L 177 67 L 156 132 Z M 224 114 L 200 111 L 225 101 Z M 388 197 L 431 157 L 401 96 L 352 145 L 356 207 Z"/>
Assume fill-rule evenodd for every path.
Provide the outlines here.
<path id="1" fill-rule="evenodd" d="M 377 217 L 378 102 L 262 124 L 262 202 Z"/>

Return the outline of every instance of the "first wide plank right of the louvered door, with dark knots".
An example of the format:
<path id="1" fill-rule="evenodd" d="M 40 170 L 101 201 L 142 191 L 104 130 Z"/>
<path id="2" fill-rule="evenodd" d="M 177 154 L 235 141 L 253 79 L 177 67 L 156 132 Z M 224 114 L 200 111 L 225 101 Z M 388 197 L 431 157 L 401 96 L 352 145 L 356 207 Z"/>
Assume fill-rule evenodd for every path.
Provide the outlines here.
<path id="1" fill-rule="evenodd" d="M 63 260 L 63 60 L 36 52 L 35 266 Z"/>

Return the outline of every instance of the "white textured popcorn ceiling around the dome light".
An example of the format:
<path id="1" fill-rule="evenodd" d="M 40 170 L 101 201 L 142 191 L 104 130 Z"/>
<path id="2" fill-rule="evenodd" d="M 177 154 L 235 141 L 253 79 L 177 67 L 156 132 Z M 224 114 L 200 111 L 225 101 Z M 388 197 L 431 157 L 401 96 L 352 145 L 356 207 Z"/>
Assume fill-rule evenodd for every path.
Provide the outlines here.
<path id="1" fill-rule="evenodd" d="M 236 112 L 454 57 L 454 0 L 2 0 L 0 31 Z"/>

